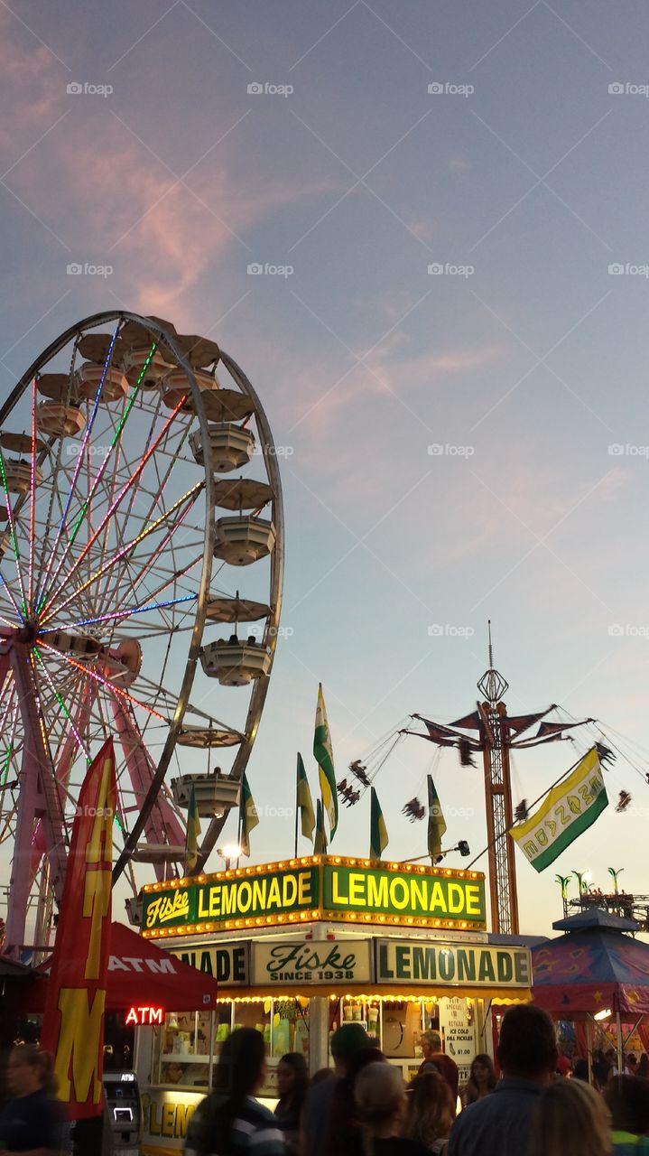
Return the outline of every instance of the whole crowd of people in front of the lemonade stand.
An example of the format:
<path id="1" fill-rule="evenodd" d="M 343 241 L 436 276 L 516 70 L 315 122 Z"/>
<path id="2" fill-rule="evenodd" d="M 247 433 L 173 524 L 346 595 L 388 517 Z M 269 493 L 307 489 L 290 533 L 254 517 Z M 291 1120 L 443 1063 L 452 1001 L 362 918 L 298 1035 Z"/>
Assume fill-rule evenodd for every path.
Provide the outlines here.
<path id="1" fill-rule="evenodd" d="M 554 1024 L 534 1005 L 505 1014 L 498 1076 L 476 1055 L 460 1087 L 439 1033 L 422 1044 L 406 1085 L 363 1025 L 345 1023 L 331 1037 L 333 1070 L 309 1080 L 304 1057 L 282 1058 L 273 1113 L 254 1098 L 267 1077 L 263 1038 L 240 1029 L 223 1046 L 185 1156 L 649 1156 L 647 1057 L 626 1057 L 618 1072 L 614 1052 L 594 1053 L 590 1084 L 588 1064 L 583 1072 L 559 1055 Z"/>

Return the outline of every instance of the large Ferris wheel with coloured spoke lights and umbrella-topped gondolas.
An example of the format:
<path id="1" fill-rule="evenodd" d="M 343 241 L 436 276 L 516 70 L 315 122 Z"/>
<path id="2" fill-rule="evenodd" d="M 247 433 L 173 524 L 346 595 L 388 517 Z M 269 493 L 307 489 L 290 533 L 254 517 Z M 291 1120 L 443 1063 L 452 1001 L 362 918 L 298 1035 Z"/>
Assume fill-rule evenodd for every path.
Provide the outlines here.
<path id="1" fill-rule="evenodd" d="M 184 874 L 192 788 L 204 862 L 268 691 L 283 511 L 239 366 L 125 312 L 61 334 L 0 408 L 0 855 L 20 949 L 49 941 L 79 791 L 111 735 L 132 918 L 147 875 Z"/>

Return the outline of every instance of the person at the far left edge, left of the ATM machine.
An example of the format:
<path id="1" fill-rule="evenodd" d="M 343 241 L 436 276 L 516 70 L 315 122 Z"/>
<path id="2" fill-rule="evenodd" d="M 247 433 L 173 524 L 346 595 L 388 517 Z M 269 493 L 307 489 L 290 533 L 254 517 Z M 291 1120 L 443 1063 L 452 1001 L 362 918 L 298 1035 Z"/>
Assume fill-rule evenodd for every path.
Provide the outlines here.
<path id="1" fill-rule="evenodd" d="M 3 1156 L 59 1156 L 67 1148 L 67 1121 L 57 1099 L 52 1057 L 35 1044 L 14 1047 L 7 1082 L 12 1098 L 0 1109 L 0 1151 Z"/>

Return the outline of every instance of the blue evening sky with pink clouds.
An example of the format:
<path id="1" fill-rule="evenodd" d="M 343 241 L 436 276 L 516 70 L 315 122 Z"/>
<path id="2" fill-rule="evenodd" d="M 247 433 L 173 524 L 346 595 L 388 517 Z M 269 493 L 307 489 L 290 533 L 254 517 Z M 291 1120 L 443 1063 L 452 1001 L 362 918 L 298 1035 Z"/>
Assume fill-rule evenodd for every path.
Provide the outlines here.
<path id="1" fill-rule="evenodd" d="M 217 340 L 278 447 L 252 861 L 291 851 L 298 749 L 315 788 L 318 682 L 343 777 L 473 709 L 491 618 L 513 712 L 635 751 L 555 868 L 519 858 L 522 931 L 560 917 L 554 870 L 647 889 L 648 31 L 639 0 L 0 2 L 2 394 L 124 307 Z M 521 753 L 515 802 L 582 749 Z M 426 851 L 401 808 L 431 768 L 448 839 L 486 844 L 480 772 L 433 758 L 404 739 L 376 778 L 390 859 Z M 331 851 L 367 853 L 368 812 Z"/>

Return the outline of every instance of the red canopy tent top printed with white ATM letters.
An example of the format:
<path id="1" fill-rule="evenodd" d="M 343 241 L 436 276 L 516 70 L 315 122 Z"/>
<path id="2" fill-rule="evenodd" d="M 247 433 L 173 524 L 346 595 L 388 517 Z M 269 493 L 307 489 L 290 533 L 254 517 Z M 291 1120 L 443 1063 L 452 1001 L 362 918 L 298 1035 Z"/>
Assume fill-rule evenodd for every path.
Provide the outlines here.
<path id="1" fill-rule="evenodd" d="M 45 963 L 43 970 L 47 970 Z M 35 980 L 25 992 L 27 1011 L 43 1011 L 49 980 Z M 216 979 L 181 963 L 169 951 L 144 940 L 124 924 L 111 924 L 111 954 L 106 1011 L 156 1005 L 170 1011 L 197 1011 L 216 1007 Z"/>

